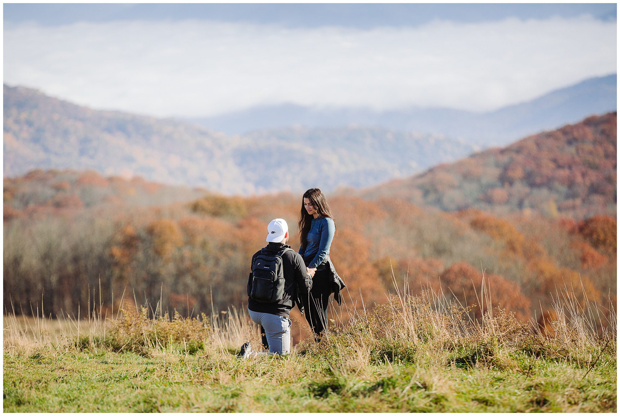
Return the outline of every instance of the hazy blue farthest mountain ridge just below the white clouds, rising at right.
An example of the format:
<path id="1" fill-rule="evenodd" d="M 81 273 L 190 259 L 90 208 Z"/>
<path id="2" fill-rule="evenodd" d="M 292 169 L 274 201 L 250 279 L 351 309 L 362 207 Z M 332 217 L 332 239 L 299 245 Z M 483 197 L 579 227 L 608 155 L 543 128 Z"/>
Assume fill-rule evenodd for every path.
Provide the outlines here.
<path id="1" fill-rule="evenodd" d="M 353 107 L 321 109 L 281 104 L 191 120 L 203 127 L 229 134 L 290 125 L 311 128 L 355 124 L 438 133 L 448 137 L 461 137 L 472 145 L 493 147 L 507 145 L 542 130 L 557 129 L 589 115 L 616 110 L 616 85 L 616 74 L 590 78 L 532 101 L 485 113 L 420 107 L 376 112 Z"/>

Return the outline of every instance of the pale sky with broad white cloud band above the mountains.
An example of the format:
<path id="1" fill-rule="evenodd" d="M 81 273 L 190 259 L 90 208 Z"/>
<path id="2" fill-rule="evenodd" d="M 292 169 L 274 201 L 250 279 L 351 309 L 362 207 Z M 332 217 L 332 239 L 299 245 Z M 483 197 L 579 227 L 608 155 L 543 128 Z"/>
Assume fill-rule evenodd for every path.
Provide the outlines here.
<path id="1" fill-rule="evenodd" d="M 615 4 L 32 6 L 4 5 L 5 83 L 163 117 L 283 102 L 489 111 L 616 73 Z"/>

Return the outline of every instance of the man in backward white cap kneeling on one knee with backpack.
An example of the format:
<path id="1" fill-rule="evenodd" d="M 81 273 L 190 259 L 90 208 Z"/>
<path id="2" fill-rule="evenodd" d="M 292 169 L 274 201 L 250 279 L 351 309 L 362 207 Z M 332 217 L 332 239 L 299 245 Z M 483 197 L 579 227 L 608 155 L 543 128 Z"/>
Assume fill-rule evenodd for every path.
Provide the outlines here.
<path id="1" fill-rule="evenodd" d="M 238 357 L 282 355 L 291 350 L 292 322 L 289 315 L 295 304 L 303 309 L 300 295 L 308 294 L 312 276 L 307 273 L 301 255 L 286 245 L 287 242 L 288 224 L 277 218 L 267 227 L 267 246 L 252 256 L 252 271 L 247 280 L 247 309 L 250 318 L 265 331 L 269 352 L 252 351 L 250 343 L 246 342 Z"/>

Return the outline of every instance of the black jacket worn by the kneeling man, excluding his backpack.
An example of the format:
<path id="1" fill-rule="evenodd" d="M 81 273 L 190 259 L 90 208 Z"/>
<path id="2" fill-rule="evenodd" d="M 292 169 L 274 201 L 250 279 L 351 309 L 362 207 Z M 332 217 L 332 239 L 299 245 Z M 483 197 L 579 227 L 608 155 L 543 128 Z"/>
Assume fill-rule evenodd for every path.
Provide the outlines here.
<path id="1" fill-rule="evenodd" d="M 250 276 L 247 279 L 247 292 L 250 292 L 250 281 L 252 276 L 252 268 L 254 268 L 254 261 L 256 257 L 263 251 L 276 254 L 284 250 L 285 248 L 291 248 L 289 245 L 282 243 L 268 243 L 265 248 L 254 253 L 252 256 L 252 264 L 250 265 Z M 279 315 L 288 317 L 295 304 L 298 305 L 300 310 L 303 310 L 301 304 L 301 294 L 308 293 L 312 287 L 312 278 L 306 273 L 306 265 L 303 258 L 299 253 L 294 250 L 287 250 L 282 255 L 282 265 L 284 267 L 284 297 L 280 302 L 264 303 L 257 302 L 251 297 L 248 298 L 248 309 L 254 312 L 265 312 L 267 314 Z"/>

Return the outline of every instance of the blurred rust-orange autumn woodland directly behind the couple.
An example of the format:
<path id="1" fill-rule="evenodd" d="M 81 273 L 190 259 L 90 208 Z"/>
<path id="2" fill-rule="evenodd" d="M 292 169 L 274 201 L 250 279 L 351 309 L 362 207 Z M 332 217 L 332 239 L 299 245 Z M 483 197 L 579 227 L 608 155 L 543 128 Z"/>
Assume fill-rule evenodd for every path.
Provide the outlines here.
<path id="1" fill-rule="evenodd" d="M 123 292 L 140 304 L 161 299 L 164 310 L 184 315 L 244 307 L 249 260 L 265 245 L 268 222 L 284 218 L 293 248 L 299 246 L 294 224 L 300 195 L 204 193 L 173 204 L 132 202 L 155 188 L 94 172 L 35 171 L 5 180 L 5 309 L 30 314 L 31 307 L 41 307 L 55 317 L 78 314 L 80 307 L 85 314 L 88 304 L 99 308 L 95 289 L 104 312 L 118 309 Z M 47 198 L 34 197 L 46 192 Z M 93 197 L 105 192 L 105 198 Z M 552 314 L 553 297 L 564 288 L 582 305 L 596 302 L 614 314 L 613 216 L 498 217 L 476 209 L 423 209 L 387 197 L 329 201 L 337 225 L 331 256 L 352 305 L 384 302 L 395 290 L 394 279 L 414 293 L 441 289 L 454 301 L 479 304 L 484 276 L 493 304 L 521 319 Z M 479 317 L 482 310 L 476 306 L 471 313 Z"/>

